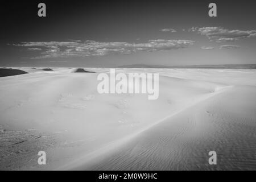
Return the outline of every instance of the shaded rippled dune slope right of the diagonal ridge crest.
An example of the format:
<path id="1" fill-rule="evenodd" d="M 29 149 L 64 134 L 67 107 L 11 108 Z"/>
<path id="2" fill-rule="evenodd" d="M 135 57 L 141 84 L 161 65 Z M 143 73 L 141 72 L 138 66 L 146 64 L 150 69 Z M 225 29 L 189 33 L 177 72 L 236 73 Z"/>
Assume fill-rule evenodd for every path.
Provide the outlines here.
<path id="1" fill-rule="evenodd" d="M 229 89 L 164 119 L 104 159 L 75 169 L 255 170 L 256 114 L 249 106 L 255 104 L 255 94 L 256 89 Z M 208 163 L 212 150 L 216 166 Z"/>

